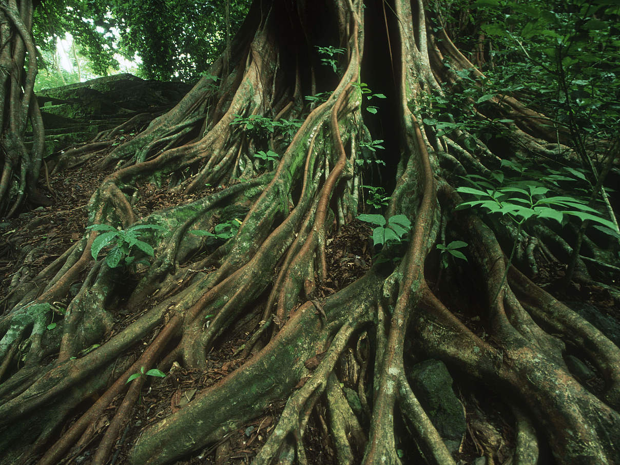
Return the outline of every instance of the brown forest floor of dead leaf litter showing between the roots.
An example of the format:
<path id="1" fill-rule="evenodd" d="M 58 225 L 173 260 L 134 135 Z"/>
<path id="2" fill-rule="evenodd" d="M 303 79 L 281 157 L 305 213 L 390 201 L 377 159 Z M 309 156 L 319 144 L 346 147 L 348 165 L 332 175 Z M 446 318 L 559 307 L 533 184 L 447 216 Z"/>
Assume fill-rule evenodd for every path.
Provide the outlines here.
<path id="1" fill-rule="evenodd" d="M 54 205 L 22 213 L 18 218 L 0 219 L 0 296 L 7 297 L 7 289 L 15 273 L 20 273 L 22 277 L 35 277 L 40 270 L 82 237 L 84 228 L 87 226 L 87 203 L 100 182 L 110 174 L 110 170 L 103 170 L 97 163 L 98 159 L 105 157 L 106 152 L 102 151 L 97 157 L 81 166 L 49 175 L 49 177 L 43 176 L 40 189 L 53 199 Z M 141 201 L 136 204 L 138 217 L 197 198 L 195 195 L 184 196 L 171 193 L 165 186 L 157 187 L 156 185 L 139 187 L 139 197 Z M 356 219 L 350 221 L 340 231 L 332 233 L 327 246 L 329 275 L 318 290 L 319 294 L 322 294 L 321 297 L 335 293 L 370 269 L 373 260 L 372 244 L 369 242 L 370 234 L 371 228 Z M 541 264 L 535 281 L 547 290 L 553 289 L 555 283 L 561 280 L 564 269 L 564 266 L 552 263 L 546 266 Z M 589 303 L 620 321 L 618 309 L 613 307 L 613 299 L 602 288 L 574 285 L 566 293 L 557 297 L 560 300 Z M 122 305 L 122 300 L 120 304 Z M 6 310 L 4 305 L 6 305 L 6 300 L 2 299 L 0 308 L 3 311 Z M 146 305 L 148 306 L 149 303 Z M 128 325 L 136 317 L 129 311 L 123 311 L 122 308 L 117 309 L 115 314 L 117 321 L 108 337 Z M 131 422 L 127 423 L 122 432 L 122 438 L 117 445 L 112 463 L 127 463 L 128 452 L 146 425 L 182 409 L 193 397 L 200 394 L 200 391 L 218 383 L 228 373 L 244 363 L 245 360 L 242 360 L 239 354 L 249 338 L 249 332 L 245 330 L 249 323 L 251 322 L 239 322 L 229 334 L 224 336 L 223 344 L 217 346 L 219 350 L 208 354 L 206 371 L 185 370 L 175 364 L 166 378 L 151 380 L 148 387 L 143 390 Z M 475 323 L 469 322 L 469 324 Z M 148 341 L 141 343 L 146 345 Z M 134 350 L 138 353 L 141 348 L 135 347 Z M 131 354 L 128 355 L 131 356 Z M 476 422 L 477 415 L 484 412 L 487 423 L 494 424 L 495 429 L 500 432 L 509 430 L 511 427 L 503 420 L 504 415 L 498 414 L 500 407 L 494 405 L 493 397 L 489 392 L 481 395 L 480 392 L 459 391 L 458 378 L 455 379 L 455 391 L 464 404 L 469 425 L 468 433 L 461 443 L 459 463 L 471 463 L 470 460 L 479 456 L 480 449 L 485 446 L 480 444 L 480 436 L 477 436 L 471 428 L 471 425 Z M 599 379 L 591 379 L 588 383 L 592 391 L 597 391 L 600 389 L 600 382 Z M 479 402 L 480 399 L 484 400 L 484 405 Z M 122 397 L 108 407 L 108 415 L 100 418 L 97 429 L 102 433 L 120 401 Z M 179 463 L 188 465 L 250 463 L 275 428 L 283 407 L 283 403 L 274 402 L 261 417 L 229 433 L 223 440 L 204 449 L 193 458 Z M 320 414 L 311 417 L 304 435 L 309 463 L 334 463 L 332 445 L 324 439 L 325 428 L 324 417 Z M 511 433 L 505 431 L 502 436 L 510 437 Z M 89 445 L 78 451 L 71 463 L 89 463 L 97 445 L 97 438 L 99 435 L 95 435 Z"/>

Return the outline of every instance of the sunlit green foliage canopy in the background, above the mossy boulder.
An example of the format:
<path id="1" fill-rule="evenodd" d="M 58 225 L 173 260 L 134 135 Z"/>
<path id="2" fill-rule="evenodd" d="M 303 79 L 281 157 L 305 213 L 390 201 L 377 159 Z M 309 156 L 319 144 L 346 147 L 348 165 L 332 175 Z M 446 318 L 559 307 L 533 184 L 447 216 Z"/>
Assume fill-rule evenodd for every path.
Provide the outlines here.
<path id="1" fill-rule="evenodd" d="M 49 68 L 56 39 L 69 32 L 96 74 L 117 68 L 118 53 L 128 60 L 138 55 L 143 78 L 190 81 L 219 56 L 248 7 L 247 0 L 42 0 L 33 35 L 42 69 Z"/>

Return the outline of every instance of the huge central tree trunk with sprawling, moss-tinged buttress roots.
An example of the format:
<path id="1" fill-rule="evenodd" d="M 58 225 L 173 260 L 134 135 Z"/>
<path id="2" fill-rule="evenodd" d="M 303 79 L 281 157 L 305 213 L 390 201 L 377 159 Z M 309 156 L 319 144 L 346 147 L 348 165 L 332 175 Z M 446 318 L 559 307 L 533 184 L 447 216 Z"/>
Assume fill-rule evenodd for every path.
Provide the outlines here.
<path id="1" fill-rule="evenodd" d="M 197 454 L 278 400 L 283 411 L 253 464 L 307 463 L 304 433 L 316 418 L 337 463 L 401 463 L 401 449 L 412 461 L 456 463 L 408 376 L 427 358 L 515 412 L 507 416 L 514 463 L 536 463 L 546 448 L 558 464 L 620 462 L 618 348 L 508 263 L 498 242 L 506 228 L 454 211 L 454 173 L 486 175 L 503 153 L 466 128 L 438 135 L 422 123 L 426 96 L 472 68 L 443 30 L 430 32 L 425 7 L 257 0 L 210 75 L 108 154 L 104 163 L 117 169 L 94 193 L 89 223 L 112 229 L 87 230 L 34 283 L 17 283 L 0 320 L 4 463 L 56 464 L 91 440 L 99 441 L 92 463 L 107 463 L 150 382 L 128 378 L 157 367 L 172 379 L 176 363 L 206 370 L 207 355 L 231 333 L 245 335 L 233 357 L 242 358 L 239 368 L 144 427 L 131 463 Z M 531 115 L 508 98 L 494 111 Z M 537 121 L 510 125 L 515 141 L 542 150 Z M 361 175 L 374 166 L 366 126 L 383 126 L 384 185 L 392 188 L 385 217 L 405 215 L 412 225 L 361 278 L 334 289 L 328 250 L 361 212 Z M 136 218 L 126 186 L 148 183 L 190 203 Z M 107 250 L 97 235 L 117 227 L 154 246 L 148 265 L 110 267 L 113 250 L 92 260 L 93 249 Z M 446 236 L 467 242 L 468 261 L 438 283 L 435 245 Z M 137 247 L 131 254 L 138 258 Z M 81 287 L 71 297 L 74 283 Z M 53 337 L 45 327 L 59 302 L 66 311 Z M 133 317 L 119 326 L 121 310 Z M 603 391 L 593 394 L 570 373 L 567 344 L 596 367 Z M 342 369 L 345 358 L 358 376 Z M 357 392 L 361 412 L 343 385 Z M 101 436 L 104 411 L 115 416 Z M 497 449 L 480 447 L 489 463 L 502 463 Z"/>

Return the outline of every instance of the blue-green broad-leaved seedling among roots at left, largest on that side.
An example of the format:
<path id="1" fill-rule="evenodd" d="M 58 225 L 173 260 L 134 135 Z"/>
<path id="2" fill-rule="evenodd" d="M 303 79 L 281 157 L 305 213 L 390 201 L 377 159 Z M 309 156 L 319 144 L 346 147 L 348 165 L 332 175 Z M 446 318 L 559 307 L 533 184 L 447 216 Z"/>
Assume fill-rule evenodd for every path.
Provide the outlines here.
<path id="1" fill-rule="evenodd" d="M 97 256 L 101 249 L 108 244 L 112 244 L 112 249 L 105 257 L 105 262 L 110 268 L 116 268 L 121 261 L 125 265 L 130 265 L 136 259 L 135 250 L 138 249 L 143 254 L 153 257 L 154 251 L 150 244 L 141 241 L 139 237 L 146 229 L 154 229 L 156 231 L 165 231 L 165 228 L 158 224 L 136 224 L 129 228 L 115 229 L 109 224 L 92 224 L 86 229 L 92 231 L 103 231 L 103 234 L 99 234 L 92 242 L 91 255 L 92 258 L 97 260 Z"/>

